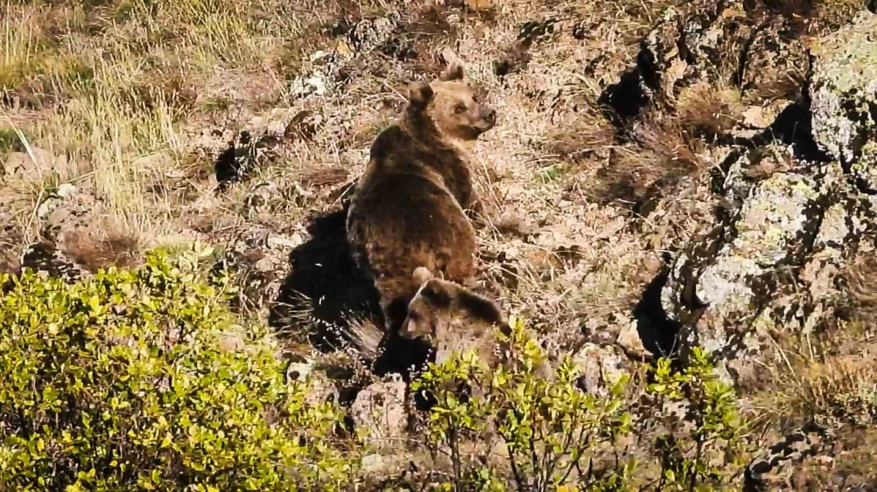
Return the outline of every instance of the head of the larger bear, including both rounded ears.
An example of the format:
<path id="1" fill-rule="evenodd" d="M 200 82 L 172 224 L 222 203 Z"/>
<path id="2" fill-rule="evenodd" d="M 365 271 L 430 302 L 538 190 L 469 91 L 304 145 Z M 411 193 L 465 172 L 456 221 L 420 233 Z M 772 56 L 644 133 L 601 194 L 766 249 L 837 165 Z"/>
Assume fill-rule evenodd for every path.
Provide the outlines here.
<path id="1" fill-rule="evenodd" d="M 439 79 L 410 87 L 409 116 L 426 116 L 443 137 L 474 140 L 496 124 L 496 111 L 478 101 L 463 81 L 463 66 L 451 62 Z"/>

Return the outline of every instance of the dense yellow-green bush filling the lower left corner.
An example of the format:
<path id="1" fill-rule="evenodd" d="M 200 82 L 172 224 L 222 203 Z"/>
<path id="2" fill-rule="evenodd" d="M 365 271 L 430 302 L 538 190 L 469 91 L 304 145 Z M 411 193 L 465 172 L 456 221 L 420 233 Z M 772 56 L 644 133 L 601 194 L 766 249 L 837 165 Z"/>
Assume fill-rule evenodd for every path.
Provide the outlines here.
<path id="1" fill-rule="evenodd" d="M 356 448 L 339 412 L 207 282 L 210 251 L 154 251 L 75 285 L 0 276 L 4 490 L 337 490 Z M 234 334 L 243 348 L 229 348 Z"/>

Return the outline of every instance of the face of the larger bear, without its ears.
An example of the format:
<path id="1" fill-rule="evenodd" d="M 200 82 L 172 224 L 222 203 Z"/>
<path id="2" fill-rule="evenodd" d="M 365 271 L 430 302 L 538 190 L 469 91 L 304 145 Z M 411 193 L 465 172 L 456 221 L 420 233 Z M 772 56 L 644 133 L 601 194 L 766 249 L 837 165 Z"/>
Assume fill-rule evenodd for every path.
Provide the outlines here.
<path id="1" fill-rule="evenodd" d="M 449 137 L 474 140 L 496 124 L 496 111 L 478 101 L 463 81 L 434 81 L 428 109 L 439 131 Z"/>

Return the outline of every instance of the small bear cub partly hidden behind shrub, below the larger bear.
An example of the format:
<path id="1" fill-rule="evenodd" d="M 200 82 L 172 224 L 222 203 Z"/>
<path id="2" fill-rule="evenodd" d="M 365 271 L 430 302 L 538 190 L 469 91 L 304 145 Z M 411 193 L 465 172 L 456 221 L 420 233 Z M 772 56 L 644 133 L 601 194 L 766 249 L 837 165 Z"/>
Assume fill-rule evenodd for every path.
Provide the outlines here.
<path id="1" fill-rule="evenodd" d="M 496 302 L 461 285 L 432 278 L 424 267 L 417 268 L 414 277 L 422 283 L 408 305 L 400 329 L 403 338 L 422 338 L 433 346 L 466 345 L 467 341 L 480 340 L 493 327 L 508 325 Z"/>

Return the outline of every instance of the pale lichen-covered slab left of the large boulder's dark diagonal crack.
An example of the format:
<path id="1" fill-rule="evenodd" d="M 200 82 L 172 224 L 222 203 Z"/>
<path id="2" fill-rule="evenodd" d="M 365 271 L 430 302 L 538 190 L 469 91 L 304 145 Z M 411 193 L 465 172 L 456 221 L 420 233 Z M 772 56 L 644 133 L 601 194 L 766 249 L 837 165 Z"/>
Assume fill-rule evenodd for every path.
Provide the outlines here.
<path id="1" fill-rule="evenodd" d="M 683 327 L 683 343 L 734 357 L 754 352 L 749 340 L 769 304 L 782 265 L 801 264 L 833 193 L 832 170 L 777 172 L 752 186 L 722 234 L 704 238 L 677 258 L 662 300 Z M 835 174 L 839 170 L 833 171 Z M 757 331 L 757 330 L 756 330 Z"/>

